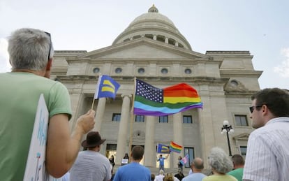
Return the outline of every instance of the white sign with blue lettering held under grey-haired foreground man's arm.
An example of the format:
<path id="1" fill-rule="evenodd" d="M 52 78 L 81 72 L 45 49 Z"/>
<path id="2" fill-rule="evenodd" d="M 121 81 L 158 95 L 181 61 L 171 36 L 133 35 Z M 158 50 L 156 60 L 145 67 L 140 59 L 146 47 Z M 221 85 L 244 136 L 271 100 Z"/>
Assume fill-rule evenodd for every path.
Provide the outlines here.
<path id="1" fill-rule="evenodd" d="M 49 113 L 45 104 L 43 94 L 40 95 L 34 129 L 29 147 L 29 154 L 24 173 L 24 181 L 56 181 L 45 170 L 45 150 L 47 141 Z"/>

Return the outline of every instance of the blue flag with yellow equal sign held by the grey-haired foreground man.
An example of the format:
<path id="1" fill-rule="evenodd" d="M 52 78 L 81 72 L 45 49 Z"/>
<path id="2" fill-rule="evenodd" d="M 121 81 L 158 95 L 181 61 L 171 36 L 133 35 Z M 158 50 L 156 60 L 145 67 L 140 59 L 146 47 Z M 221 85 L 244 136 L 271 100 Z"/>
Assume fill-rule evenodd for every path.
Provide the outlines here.
<path id="1" fill-rule="evenodd" d="M 98 99 L 101 97 L 115 98 L 119 86 L 120 86 L 119 83 L 113 80 L 110 76 L 100 75 L 98 77 L 94 99 Z"/>

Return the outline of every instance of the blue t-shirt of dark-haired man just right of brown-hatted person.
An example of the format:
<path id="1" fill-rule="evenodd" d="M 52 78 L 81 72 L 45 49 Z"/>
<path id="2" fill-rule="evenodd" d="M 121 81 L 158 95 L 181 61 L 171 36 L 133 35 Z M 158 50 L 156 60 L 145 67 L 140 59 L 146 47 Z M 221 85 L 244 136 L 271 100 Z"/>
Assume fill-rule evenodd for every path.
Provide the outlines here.
<path id="1" fill-rule="evenodd" d="M 151 171 L 149 168 L 142 166 L 138 162 L 131 162 L 117 169 L 113 181 L 150 181 Z"/>

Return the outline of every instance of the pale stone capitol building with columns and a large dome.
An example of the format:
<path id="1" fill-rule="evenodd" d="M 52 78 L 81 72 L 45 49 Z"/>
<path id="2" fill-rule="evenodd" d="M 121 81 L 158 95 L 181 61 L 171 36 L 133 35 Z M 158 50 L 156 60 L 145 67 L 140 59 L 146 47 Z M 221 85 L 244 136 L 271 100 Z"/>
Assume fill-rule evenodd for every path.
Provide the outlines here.
<path id="1" fill-rule="evenodd" d="M 201 157 L 207 168 L 207 156 L 215 146 L 228 155 L 230 152 L 246 155 L 249 134 L 253 131 L 251 95 L 260 89 L 258 78 L 262 74 L 254 70 L 249 51 L 195 52 L 193 46 L 198 45 L 190 45 L 174 22 L 154 5 L 119 33 L 112 45 L 91 52 L 55 51 L 51 78 L 62 82 L 71 96 L 71 131 L 77 117 L 91 107 L 96 110 L 94 131 L 106 139 L 101 153 L 107 157 L 113 154 L 116 165 L 121 164 L 131 147 L 141 145 L 144 147 L 141 163 L 154 169 L 158 167 L 158 143 L 169 145 L 170 141 L 183 147 L 180 154 L 172 152 L 165 160 L 165 168 L 174 171 L 177 158 L 186 154 L 190 160 Z M 93 101 L 100 74 L 119 82 L 115 99 Z M 181 82 L 191 85 L 198 91 L 203 108 L 160 117 L 133 115 L 135 78 L 158 88 Z M 234 130 L 228 137 L 221 134 L 224 120 Z M 189 167 L 187 163 L 185 171 Z"/>

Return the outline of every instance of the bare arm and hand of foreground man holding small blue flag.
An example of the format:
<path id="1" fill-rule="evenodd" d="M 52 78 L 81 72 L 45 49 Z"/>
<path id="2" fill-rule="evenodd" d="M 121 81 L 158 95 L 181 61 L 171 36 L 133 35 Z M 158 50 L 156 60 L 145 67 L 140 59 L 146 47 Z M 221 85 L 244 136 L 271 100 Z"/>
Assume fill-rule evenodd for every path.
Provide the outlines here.
<path id="1" fill-rule="evenodd" d="M 80 116 L 71 136 L 68 115 L 59 114 L 50 118 L 47 131 L 46 169 L 54 178 L 64 175 L 73 165 L 80 150 L 80 140 L 94 128 L 94 110 Z"/>

